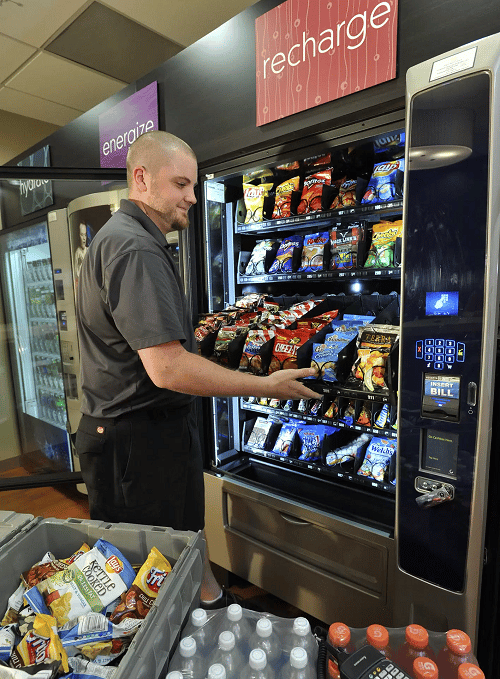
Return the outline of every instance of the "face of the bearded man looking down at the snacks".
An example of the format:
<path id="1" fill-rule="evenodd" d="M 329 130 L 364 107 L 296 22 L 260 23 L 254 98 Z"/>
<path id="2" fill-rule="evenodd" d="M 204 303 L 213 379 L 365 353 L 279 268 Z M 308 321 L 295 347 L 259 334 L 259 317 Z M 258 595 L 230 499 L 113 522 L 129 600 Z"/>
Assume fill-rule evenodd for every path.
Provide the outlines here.
<path id="1" fill-rule="evenodd" d="M 161 214 L 164 233 L 188 228 L 188 210 L 196 203 L 197 180 L 196 160 L 182 152 L 176 153 L 158 172 L 151 173 L 149 195 L 144 202 Z"/>

